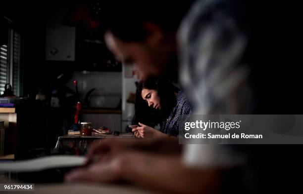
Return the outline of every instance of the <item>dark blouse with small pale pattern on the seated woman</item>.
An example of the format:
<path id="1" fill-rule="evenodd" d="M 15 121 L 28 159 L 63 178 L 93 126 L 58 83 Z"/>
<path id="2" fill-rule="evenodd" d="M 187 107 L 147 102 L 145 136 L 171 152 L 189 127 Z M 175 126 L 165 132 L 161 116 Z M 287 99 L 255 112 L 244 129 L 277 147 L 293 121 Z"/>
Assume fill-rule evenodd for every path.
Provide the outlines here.
<path id="1" fill-rule="evenodd" d="M 176 98 L 176 106 L 172 109 L 167 119 L 162 120 L 160 123 L 160 131 L 173 136 L 178 136 L 179 134 L 179 116 L 192 114 L 192 107 L 187 101 L 183 91 L 180 90 Z"/>

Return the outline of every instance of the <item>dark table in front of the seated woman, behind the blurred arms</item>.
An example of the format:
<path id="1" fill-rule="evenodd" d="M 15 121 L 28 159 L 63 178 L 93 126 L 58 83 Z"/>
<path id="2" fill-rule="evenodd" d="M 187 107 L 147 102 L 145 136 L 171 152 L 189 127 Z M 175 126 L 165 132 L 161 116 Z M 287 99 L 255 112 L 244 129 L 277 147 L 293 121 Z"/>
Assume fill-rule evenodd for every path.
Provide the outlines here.
<path id="1" fill-rule="evenodd" d="M 92 136 L 65 135 L 58 138 L 55 149 L 59 151 L 74 150 L 76 153 L 83 155 L 87 152 L 88 147 L 94 142 L 100 142 L 104 138 L 134 138 L 132 133 L 122 133 L 119 136 L 112 134 L 97 134 Z"/>

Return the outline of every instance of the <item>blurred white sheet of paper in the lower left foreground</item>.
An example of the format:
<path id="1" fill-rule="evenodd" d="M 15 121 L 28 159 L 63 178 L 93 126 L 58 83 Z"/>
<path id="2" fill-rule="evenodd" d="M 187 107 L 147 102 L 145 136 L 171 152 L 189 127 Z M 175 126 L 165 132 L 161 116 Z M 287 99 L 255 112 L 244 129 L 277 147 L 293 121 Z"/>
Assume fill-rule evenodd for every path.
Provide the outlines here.
<path id="1" fill-rule="evenodd" d="M 30 172 L 49 168 L 82 166 L 85 156 L 52 155 L 20 161 L 0 161 L 0 171 Z"/>

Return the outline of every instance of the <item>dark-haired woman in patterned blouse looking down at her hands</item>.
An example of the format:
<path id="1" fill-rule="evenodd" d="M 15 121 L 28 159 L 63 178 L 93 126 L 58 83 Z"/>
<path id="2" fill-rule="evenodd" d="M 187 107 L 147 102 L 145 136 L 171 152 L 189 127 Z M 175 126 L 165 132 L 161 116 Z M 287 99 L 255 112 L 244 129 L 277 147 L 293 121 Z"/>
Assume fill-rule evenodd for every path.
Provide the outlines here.
<path id="1" fill-rule="evenodd" d="M 147 78 L 139 82 L 135 100 L 133 129 L 139 138 L 177 136 L 179 117 L 192 114 L 182 90 L 163 78 Z M 159 124 L 160 129 L 154 127 Z"/>

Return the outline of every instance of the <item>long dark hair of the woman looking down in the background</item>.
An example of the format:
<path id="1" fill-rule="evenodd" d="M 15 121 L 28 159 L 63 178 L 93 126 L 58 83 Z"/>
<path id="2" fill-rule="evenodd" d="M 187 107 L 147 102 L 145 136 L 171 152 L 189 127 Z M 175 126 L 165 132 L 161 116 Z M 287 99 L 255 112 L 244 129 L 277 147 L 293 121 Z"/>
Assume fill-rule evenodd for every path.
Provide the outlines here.
<path id="1" fill-rule="evenodd" d="M 157 90 L 160 98 L 161 110 L 155 110 L 148 106 L 148 103 L 142 98 L 142 89 Z M 133 124 L 138 122 L 154 127 L 162 119 L 169 116 L 172 108 L 176 106 L 176 95 L 179 88 L 164 78 L 147 78 L 139 82 L 135 99 L 135 116 Z"/>

